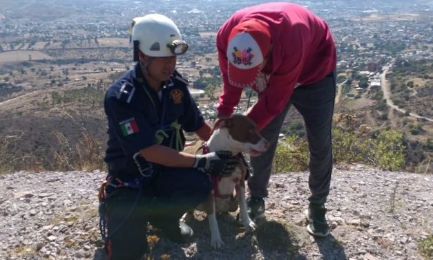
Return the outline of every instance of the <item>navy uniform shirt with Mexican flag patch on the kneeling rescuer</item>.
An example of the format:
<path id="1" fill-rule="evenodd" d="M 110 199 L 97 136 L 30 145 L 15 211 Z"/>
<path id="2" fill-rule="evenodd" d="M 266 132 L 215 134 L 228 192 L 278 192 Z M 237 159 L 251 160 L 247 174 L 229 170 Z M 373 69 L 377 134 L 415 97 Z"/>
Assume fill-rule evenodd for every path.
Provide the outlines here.
<path id="1" fill-rule="evenodd" d="M 183 149 L 182 130 L 197 131 L 204 124 L 187 85 L 175 71 L 157 93 L 136 64 L 110 86 L 104 100 L 108 119 L 106 163 L 127 170 L 133 165 L 133 155 L 146 147 L 161 144 Z M 175 126 L 180 127 L 180 136 L 176 136 Z"/>

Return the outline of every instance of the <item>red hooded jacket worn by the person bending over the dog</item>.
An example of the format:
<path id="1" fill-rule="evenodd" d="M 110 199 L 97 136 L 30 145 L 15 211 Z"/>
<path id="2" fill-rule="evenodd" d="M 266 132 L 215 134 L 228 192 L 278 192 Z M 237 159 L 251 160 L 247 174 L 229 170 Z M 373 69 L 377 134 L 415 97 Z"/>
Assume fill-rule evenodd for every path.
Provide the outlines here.
<path id="1" fill-rule="evenodd" d="M 302 6 L 263 3 L 238 10 L 221 26 L 216 39 L 224 84 L 217 107 L 219 116 L 231 115 L 242 94 L 242 88 L 231 86 L 227 78 L 226 53 L 231 29 L 253 18 L 268 24 L 273 44 L 271 57 L 262 69 L 265 84 L 253 86 L 260 98 L 248 113 L 258 128 L 263 129 L 289 102 L 296 86 L 313 84 L 334 71 L 336 47 L 325 21 Z"/>

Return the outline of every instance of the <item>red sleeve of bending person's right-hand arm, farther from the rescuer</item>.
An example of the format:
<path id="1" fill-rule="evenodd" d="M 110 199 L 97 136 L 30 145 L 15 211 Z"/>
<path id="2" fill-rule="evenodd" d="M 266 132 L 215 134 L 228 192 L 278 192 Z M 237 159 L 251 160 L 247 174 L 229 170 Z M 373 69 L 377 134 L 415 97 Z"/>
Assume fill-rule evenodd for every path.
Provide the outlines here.
<path id="1" fill-rule="evenodd" d="M 247 116 L 256 122 L 259 130 L 264 129 L 289 102 L 301 72 L 301 57 L 302 55 L 300 55 L 299 62 L 296 63 L 295 67 L 290 66 L 288 62 L 283 63 L 281 65 L 282 69 L 271 75 L 269 89 L 251 107 Z M 293 64 L 293 60 L 291 63 Z"/>

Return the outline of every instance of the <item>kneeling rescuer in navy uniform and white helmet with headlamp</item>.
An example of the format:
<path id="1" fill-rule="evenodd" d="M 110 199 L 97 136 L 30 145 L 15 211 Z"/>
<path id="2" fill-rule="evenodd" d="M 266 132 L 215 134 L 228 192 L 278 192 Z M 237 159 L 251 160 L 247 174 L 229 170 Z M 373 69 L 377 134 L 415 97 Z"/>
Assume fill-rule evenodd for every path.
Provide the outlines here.
<path id="1" fill-rule="evenodd" d="M 108 177 L 102 189 L 101 232 L 110 259 L 139 259 L 148 248 L 146 223 L 182 243 L 193 230 L 179 221 L 211 192 L 208 174 L 229 174 L 229 151 L 182 152 L 184 131 L 208 140 L 187 85 L 175 70 L 188 45 L 164 15 L 137 17 L 131 25 L 135 67 L 106 93 Z M 107 230 L 107 232 L 105 232 Z"/>

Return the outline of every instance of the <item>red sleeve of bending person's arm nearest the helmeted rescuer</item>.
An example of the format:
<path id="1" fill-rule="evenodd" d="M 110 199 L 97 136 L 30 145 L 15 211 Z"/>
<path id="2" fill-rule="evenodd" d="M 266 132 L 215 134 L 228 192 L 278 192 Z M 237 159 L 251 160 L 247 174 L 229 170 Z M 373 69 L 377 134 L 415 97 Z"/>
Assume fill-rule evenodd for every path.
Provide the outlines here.
<path id="1" fill-rule="evenodd" d="M 233 109 L 238 104 L 240 96 L 242 95 L 242 89 L 231 86 L 229 83 L 229 78 L 227 77 L 227 39 L 224 37 L 223 32 L 218 33 L 217 47 L 218 62 L 220 63 L 222 84 L 224 86 L 222 89 L 222 94 L 218 98 L 220 104 L 218 104 L 217 111 L 218 117 L 220 118 L 230 116 L 233 113 Z"/>

